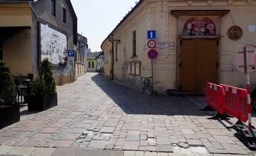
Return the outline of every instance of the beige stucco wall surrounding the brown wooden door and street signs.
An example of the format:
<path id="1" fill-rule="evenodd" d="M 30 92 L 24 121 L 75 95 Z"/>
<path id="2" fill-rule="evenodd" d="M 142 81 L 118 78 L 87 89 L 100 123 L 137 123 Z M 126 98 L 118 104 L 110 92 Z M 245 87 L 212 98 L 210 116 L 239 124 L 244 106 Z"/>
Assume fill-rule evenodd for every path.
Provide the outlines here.
<path id="1" fill-rule="evenodd" d="M 144 1 L 117 29 L 114 30 L 114 39 L 121 40 L 118 45 L 118 61 L 114 62 L 115 79 L 139 88 L 139 76 L 127 74 L 127 62 L 142 61 L 141 76 L 151 76 L 151 64 L 147 57 L 146 30 L 156 30 L 157 41 L 175 43 L 176 49 L 157 49 L 159 57 L 154 60 L 154 89 L 164 92 L 166 89 L 177 89 L 177 63 L 178 63 L 178 19 L 171 16 L 172 10 L 230 10 L 230 13 L 220 18 L 220 54 L 218 82 L 243 86 L 245 84 L 245 74 L 232 73 L 231 56 L 233 50 L 241 44 L 256 45 L 256 32 L 250 33 L 248 25 L 256 25 L 256 2 L 255 1 Z M 233 26 L 231 17 L 233 16 L 235 25 L 243 30 L 240 40 L 233 41 L 227 36 L 228 28 Z M 137 30 L 137 55 L 132 57 L 132 31 Z M 115 44 L 114 44 L 115 45 Z M 108 40 L 102 44 L 105 52 L 105 75 L 110 77 L 111 65 L 111 43 Z M 114 48 L 115 50 L 115 48 Z M 114 52 L 115 54 L 115 52 Z M 106 57 L 109 56 L 108 58 Z M 252 84 L 256 84 L 256 73 L 251 74 Z"/>

